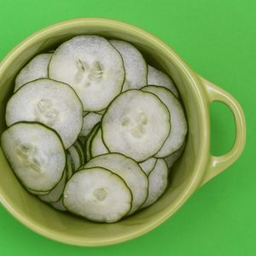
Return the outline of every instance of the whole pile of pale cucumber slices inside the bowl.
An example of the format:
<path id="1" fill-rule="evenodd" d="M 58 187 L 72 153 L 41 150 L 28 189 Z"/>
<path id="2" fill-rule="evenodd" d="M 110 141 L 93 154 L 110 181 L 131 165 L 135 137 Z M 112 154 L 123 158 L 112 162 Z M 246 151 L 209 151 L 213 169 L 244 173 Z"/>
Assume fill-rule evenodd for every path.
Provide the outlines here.
<path id="1" fill-rule="evenodd" d="M 24 188 L 113 223 L 158 201 L 187 122 L 172 79 L 132 44 L 80 35 L 20 70 L 1 143 Z"/>

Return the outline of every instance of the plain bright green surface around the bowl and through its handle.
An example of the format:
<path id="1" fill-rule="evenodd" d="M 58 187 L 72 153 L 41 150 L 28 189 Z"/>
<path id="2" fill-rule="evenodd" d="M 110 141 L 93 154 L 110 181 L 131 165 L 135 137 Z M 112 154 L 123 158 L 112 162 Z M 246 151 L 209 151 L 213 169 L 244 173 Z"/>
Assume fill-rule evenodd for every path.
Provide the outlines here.
<path id="1" fill-rule="evenodd" d="M 198 190 L 157 229 L 111 247 L 72 247 L 34 234 L 0 207 L 0 255 L 255 255 L 255 0 L 0 0 L 0 59 L 32 32 L 57 21 L 108 17 L 164 40 L 197 73 L 241 102 L 247 146 L 241 158 Z M 234 139 L 230 111 L 211 107 L 212 153 Z"/>

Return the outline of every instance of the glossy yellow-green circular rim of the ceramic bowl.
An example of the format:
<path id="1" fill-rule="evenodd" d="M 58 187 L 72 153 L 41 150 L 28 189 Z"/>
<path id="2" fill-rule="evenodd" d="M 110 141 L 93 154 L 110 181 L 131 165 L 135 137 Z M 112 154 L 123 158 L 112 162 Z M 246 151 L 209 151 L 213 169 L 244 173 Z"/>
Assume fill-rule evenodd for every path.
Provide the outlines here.
<path id="1" fill-rule="evenodd" d="M 209 159 L 209 145 L 210 145 L 210 135 L 209 135 L 209 114 L 207 112 L 207 96 L 205 93 L 205 90 L 203 89 L 203 86 L 201 86 L 201 80 L 198 79 L 196 73 L 194 73 L 188 66 L 185 64 L 185 62 L 181 59 L 179 55 L 177 55 L 173 49 L 171 49 L 169 46 L 167 46 L 163 41 L 161 41 L 159 38 L 154 37 L 149 32 L 146 32 L 145 30 L 138 28 L 137 26 L 132 26 L 130 24 L 127 24 L 125 22 L 121 22 L 118 20 L 111 20 L 106 18 L 79 18 L 74 20 L 66 20 L 62 22 L 55 23 L 52 26 L 45 27 L 38 32 L 33 33 L 31 36 L 23 40 L 20 44 L 18 44 L 14 49 L 12 49 L 8 55 L 3 59 L 3 61 L 0 63 L 0 76 L 1 73 L 4 72 L 6 68 L 11 65 L 12 61 L 15 61 L 15 58 L 20 55 L 20 53 L 24 50 L 30 47 L 34 41 L 40 40 L 40 38 L 44 38 L 46 35 L 51 34 L 55 31 L 59 31 L 61 29 L 67 29 L 67 27 L 78 27 L 78 26 L 102 26 L 102 27 L 108 27 L 108 28 L 121 28 L 122 30 L 126 32 L 130 32 L 133 34 L 139 35 L 143 40 L 150 41 L 151 44 L 154 44 L 155 47 L 158 47 L 162 51 L 165 52 L 166 55 L 172 59 L 172 61 L 176 64 L 176 66 L 183 72 L 183 74 L 186 76 L 186 79 L 188 79 L 189 83 L 192 85 L 191 90 L 193 90 L 195 96 L 197 96 L 198 99 L 198 111 L 200 111 L 200 125 L 202 127 L 202 134 L 201 137 L 204 138 L 204 143 L 201 143 L 200 145 L 200 160 L 197 161 L 196 166 L 196 172 L 189 180 L 189 186 L 184 189 L 184 191 L 179 196 L 178 200 L 176 201 L 176 204 L 174 207 L 166 207 L 161 212 L 161 217 L 158 219 L 154 219 L 153 221 L 149 221 L 147 226 L 143 229 L 136 230 L 134 232 L 130 232 L 127 235 L 119 236 L 119 237 L 113 237 L 109 239 L 104 240 L 96 240 L 96 239 L 90 239 L 85 241 L 85 239 L 79 240 L 78 237 L 68 236 L 63 233 L 55 232 L 53 230 L 49 230 L 48 228 L 39 226 L 36 222 L 32 222 L 26 218 L 26 216 L 23 216 L 20 214 L 20 212 L 15 210 L 15 207 L 13 207 L 7 200 L 5 200 L 4 196 L 1 193 L 0 188 L 0 202 L 3 204 L 3 207 L 5 207 L 16 219 L 20 221 L 20 223 L 26 225 L 29 229 L 35 231 L 36 233 L 48 237 L 55 241 L 60 241 L 62 243 L 67 243 L 70 245 L 76 245 L 76 246 L 86 246 L 86 247 L 98 247 L 98 246 L 106 246 L 106 245 L 112 245 L 117 244 L 120 242 L 131 240 L 137 236 L 143 236 L 143 234 L 148 233 L 150 230 L 154 230 L 157 226 L 162 224 L 166 221 L 167 218 L 170 218 L 173 213 L 177 212 L 177 209 L 180 208 L 185 201 L 189 199 L 189 196 L 192 195 L 195 190 L 200 186 L 201 180 L 204 177 L 204 174 L 206 172 L 207 167 L 207 161 Z"/>

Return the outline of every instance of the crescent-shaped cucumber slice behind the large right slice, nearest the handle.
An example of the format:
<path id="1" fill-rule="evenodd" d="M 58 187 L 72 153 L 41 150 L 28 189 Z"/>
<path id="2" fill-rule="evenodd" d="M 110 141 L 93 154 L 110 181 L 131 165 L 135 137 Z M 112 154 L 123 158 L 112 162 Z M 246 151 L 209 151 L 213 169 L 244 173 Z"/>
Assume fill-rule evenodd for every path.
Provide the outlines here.
<path id="1" fill-rule="evenodd" d="M 164 158 L 180 148 L 185 141 L 188 127 L 183 107 L 177 100 L 177 97 L 173 96 L 172 92 L 164 87 L 147 85 L 143 87 L 142 90 L 154 93 L 158 96 L 171 113 L 172 130 L 170 135 L 166 139 L 164 145 L 160 148 L 160 151 L 154 155 L 157 158 Z"/>

